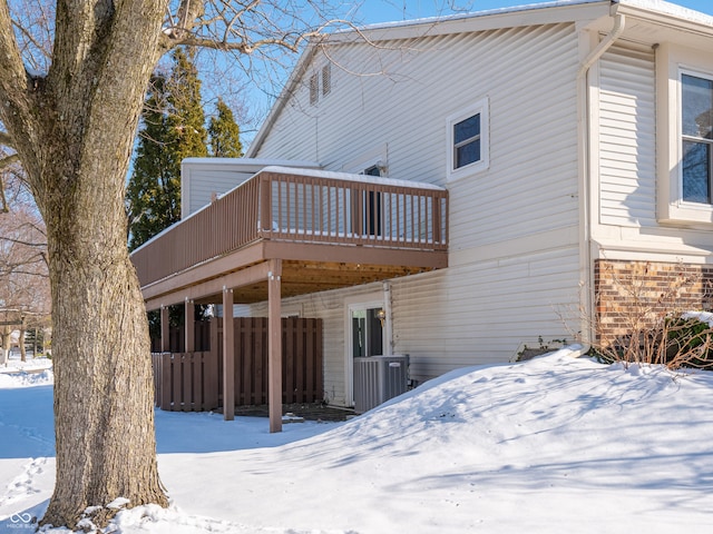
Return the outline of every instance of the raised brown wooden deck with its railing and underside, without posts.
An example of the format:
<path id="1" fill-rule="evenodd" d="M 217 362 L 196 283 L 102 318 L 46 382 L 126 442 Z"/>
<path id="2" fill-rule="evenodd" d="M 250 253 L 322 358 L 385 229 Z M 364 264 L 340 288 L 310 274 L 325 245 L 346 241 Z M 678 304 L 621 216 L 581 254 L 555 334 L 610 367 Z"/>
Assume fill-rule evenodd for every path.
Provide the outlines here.
<path id="1" fill-rule="evenodd" d="M 348 179 L 345 177 L 353 177 Z M 429 185 L 267 168 L 134 251 L 148 309 L 267 298 L 282 263 L 290 297 L 447 266 L 448 192 Z M 262 281 L 246 281 L 258 270 Z M 241 271 L 245 271 L 241 275 Z"/>

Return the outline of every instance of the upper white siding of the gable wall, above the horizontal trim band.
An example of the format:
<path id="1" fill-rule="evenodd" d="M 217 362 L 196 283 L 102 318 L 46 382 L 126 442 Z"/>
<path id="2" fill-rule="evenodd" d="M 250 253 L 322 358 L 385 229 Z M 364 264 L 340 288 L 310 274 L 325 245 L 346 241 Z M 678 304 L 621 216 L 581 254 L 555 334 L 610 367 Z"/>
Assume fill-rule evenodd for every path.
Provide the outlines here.
<path id="1" fill-rule="evenodd" d="M 446 119 L 488 98 L 489 168 L 449 187 L 450 248 L 578 224 L 578 56 L 572 24 L 385 42 L 378 49 L 344 44 L 330 57 L 344 67 L 332 70 L 330 98 L 310 108 L 307 88 L 297 91 L 256 157 L 311 158 L 341 170 L 344 161 L 387 146 L 389 177 L 445 186 Z M 384 76 L 346 72 L 381 69 Z"/>

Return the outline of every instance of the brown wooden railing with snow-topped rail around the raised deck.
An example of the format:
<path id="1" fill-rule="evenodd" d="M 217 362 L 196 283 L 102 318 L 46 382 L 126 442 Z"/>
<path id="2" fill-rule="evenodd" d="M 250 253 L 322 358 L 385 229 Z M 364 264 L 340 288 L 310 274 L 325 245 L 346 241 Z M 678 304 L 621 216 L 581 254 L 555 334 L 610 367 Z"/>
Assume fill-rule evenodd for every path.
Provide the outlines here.
<path id="1" fill-rule="evenodd" d="M 257 240 L 443 251 L 448 192 L 388 179 L 263 170 L 131 255 L 141 285 Z"/>

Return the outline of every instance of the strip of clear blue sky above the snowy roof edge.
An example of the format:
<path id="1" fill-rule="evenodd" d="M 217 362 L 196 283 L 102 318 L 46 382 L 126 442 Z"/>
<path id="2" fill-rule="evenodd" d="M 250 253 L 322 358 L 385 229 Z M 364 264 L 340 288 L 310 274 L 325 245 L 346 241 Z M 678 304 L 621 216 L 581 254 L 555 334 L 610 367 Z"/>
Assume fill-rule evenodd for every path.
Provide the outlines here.
<path id="1" fill-rule="evenodd" d="M 354 2 L 354 18 L 361 23 L 392 22 L 439 14 L 452 14 L 448 6 L 455 4 L 462 11 L 511 8 L 547 0 L 362 0 Z M 713 16 L 713 0 L 670 0 L 670 3 Z"/>

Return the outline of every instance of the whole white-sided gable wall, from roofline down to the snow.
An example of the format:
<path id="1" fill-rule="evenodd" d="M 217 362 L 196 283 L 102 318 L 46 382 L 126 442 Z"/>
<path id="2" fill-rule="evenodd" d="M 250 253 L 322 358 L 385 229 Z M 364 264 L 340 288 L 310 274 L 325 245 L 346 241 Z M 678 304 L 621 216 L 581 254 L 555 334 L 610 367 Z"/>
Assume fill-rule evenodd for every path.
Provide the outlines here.
<path id="1" fill-rule="evenodd" d="M 449 188 L 449 268 L 390 281 L 391 353 L 411 356 L 411 377 L 507 362 L 540 337 L 572 339 L 580 280 L 574 24 L 346 43 L 330 58 L 329 93 L 310 103 L 306 80 L 328 65 L 318 56 L 252 156 L 350 172 L 379 162 L 391 178 Z M 447 119 L 484 100 L 489 166 L 450 179 Z M 336 404 L 349 396 L 346 303 L 373 289 L 283 301 L 324 319 L 325 388 Z"/>

